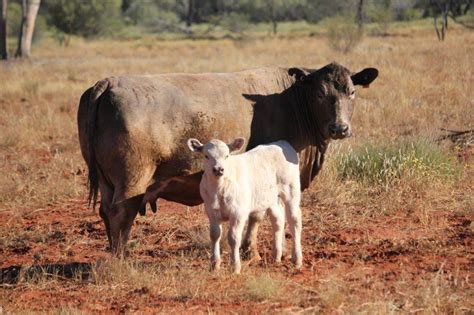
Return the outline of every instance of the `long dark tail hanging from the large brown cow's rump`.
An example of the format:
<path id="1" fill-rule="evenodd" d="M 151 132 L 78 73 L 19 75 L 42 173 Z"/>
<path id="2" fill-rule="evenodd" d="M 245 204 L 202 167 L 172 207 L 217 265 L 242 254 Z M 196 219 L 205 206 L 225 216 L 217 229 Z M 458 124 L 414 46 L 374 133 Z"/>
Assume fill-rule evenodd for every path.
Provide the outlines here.
<path id="1" fill-rule="evenodd" d="M 99 192 L 99 168 L 97 165 L 97 158 L 95 154 L 96 147 L 96 130 L 97 130 L 97 106 L 98 100 L 102 94 L 109 89 L 110 81 L 108 79 L 97 82 L 89 95 L 87 104 L 87 157 L 88 157 L 88 186 L 89 186 L 89 206 L 92 204 L 92 209 L 95 209 L 97 204 Z"/>

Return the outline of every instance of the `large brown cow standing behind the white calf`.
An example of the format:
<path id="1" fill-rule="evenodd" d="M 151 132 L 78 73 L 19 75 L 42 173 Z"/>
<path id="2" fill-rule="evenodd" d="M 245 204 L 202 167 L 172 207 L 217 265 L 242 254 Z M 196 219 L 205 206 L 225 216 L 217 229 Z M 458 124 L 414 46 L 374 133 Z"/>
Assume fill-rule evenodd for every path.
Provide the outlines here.
<path id="1" fill-rule="evenodd" d="M 202 203 L 199 159 L 186 139 L 288 141 L 300 157 L 306 189 L 331 139 L 350 136 L 355 85 L 374 68 L 352 73 L 331 63 L 318 70 L 264 68 L 236 73 L 110 77 L 81 97 L 79 141 L 89 167 L 89 199 L 101 193 L 100 216 L 110 248 L 121 253 L 137 213 L 163 198 Z M 243 247 L 256 251 L 260 217 L 250 218 Z"/>

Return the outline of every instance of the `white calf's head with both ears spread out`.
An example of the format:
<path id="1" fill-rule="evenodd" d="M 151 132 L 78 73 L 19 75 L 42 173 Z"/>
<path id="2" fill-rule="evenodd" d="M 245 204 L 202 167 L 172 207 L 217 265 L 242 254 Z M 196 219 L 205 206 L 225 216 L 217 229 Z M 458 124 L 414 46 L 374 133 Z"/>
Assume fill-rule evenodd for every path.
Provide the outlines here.
<path id="1" fill-rule="evenodd" d="M 237 138 L 230 144 L 214 139 L 202 144 L 198 139 L 191 138 L 188 139 L 187 144 L 192 152 L 204 155 L 204 172 L 206 174 L 221 177 L 224 175 L 229 155 L 240 151 L 244 142 L 244 138 Z"/>

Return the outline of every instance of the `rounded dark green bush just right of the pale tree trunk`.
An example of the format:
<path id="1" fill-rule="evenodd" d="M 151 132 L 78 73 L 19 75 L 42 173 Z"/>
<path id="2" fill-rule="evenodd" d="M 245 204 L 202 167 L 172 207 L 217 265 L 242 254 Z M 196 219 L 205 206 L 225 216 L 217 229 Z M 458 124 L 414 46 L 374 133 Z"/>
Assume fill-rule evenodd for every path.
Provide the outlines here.
<path id="1" fill-rule="evenodd" d="M 110 35 L 121 26 L 121 0 L 49 0 L 45 11 L 50 25 L 66 34 Z"/>

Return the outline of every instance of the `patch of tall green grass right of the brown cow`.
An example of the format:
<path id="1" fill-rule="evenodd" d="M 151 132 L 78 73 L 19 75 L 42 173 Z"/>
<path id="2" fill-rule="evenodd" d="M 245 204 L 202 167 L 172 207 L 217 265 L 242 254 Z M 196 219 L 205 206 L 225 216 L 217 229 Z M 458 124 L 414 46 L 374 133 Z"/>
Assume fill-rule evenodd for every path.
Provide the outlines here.
<path id="1" fill-rule="evenodd" d="M 365 144 L 337 158 L 343 180 L 368 184 L 393 184 L 402 178 L 449 180 L 459 175 L 459 166 L 447 149 L 428 140 L 401 140 Z"/>

